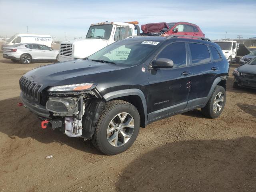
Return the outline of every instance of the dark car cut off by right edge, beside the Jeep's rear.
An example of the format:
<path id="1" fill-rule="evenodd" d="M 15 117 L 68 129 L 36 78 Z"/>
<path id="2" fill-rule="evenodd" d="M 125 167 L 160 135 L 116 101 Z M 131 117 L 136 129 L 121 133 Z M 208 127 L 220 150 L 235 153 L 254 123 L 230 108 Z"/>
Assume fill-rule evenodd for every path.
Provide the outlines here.
<path id="1" fill-rule="evenodd" d="M 256 89 L 256 57 L 243 66 L 234 69 L 233 76 L 233 88 L 247 87 Z"/>

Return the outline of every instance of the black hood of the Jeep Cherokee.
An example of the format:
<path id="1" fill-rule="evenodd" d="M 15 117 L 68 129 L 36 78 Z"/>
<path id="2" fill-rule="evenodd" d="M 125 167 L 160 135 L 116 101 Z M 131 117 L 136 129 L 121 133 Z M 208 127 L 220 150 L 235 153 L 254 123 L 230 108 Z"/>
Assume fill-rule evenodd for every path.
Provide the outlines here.
<path id="1" fill-rule="evenodd" d="M 78 59 L 41 66 L 27 72 L 24 76 L 34 82 L 43 84 L 44 88 L 46 88 L 46 86 L 65 84 L 98 83 L 97 77 L 102 76 L 104 73 L 129 67 Z"/>

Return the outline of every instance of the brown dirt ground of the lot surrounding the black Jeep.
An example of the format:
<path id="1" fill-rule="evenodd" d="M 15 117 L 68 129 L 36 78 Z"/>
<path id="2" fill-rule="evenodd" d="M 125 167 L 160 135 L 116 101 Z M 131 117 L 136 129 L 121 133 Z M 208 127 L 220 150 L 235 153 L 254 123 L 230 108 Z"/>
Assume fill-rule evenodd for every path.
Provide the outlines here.
<path id="1" fill-rule="evenodd" d="M 19 78 L 45 64 L 0 53 L 0 191 L 256 191 L 256 91 L 232 88 L 238 65 L 219 118 L 166 118 L 141 128 L 126 152 L 104 156 L 90 141 L 42 130 L 17 106 Z"/>

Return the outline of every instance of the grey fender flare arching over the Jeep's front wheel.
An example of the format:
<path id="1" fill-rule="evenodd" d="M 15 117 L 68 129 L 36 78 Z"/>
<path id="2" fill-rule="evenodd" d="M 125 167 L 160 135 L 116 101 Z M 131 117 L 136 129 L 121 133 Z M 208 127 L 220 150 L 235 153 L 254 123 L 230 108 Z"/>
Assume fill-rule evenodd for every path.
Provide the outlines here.
<path id="1" fill-rule="evenodd" d="M 139 89 L 124 89 L 124 90 L 109 92 L 109 93 L 103 95 L 102 97 L 108 102 L 109 100 L 112 100 L 114 98 L 130 96 L 130 95 L 137 95 L 140 97 L 142 105 L 143 105 L 143 109 L 144 109 L 144 119 L 145 119 L 145 125 L 146 125 L 148 110 L 147 110 L 146 98 L 141 90 L 139 90 Z"/>

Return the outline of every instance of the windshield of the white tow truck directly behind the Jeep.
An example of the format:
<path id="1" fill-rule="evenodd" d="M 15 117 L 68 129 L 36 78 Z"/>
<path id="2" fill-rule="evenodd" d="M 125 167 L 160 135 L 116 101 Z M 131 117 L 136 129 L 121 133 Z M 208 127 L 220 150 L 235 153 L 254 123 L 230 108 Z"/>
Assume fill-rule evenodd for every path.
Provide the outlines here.
<path id="1" fill-rule="evenodd" d="M 109 39 L 113 25 L 94 25 L 90 26 L 86 39 Z"/>

